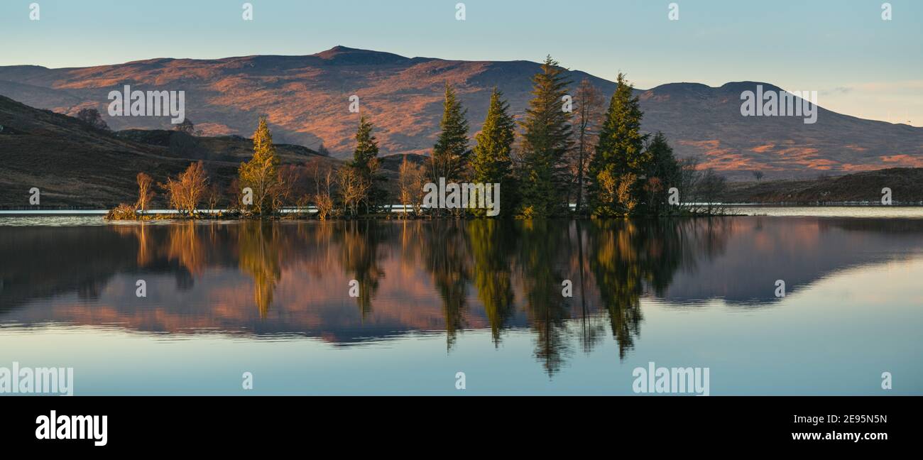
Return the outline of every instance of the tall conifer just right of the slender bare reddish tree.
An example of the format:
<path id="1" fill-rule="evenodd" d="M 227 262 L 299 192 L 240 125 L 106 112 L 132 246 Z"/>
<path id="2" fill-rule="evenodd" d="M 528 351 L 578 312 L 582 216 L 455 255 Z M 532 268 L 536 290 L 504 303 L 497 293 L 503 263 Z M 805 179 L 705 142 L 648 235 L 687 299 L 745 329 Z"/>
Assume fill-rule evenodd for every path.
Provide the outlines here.
<path id="1" fill-rule="evenodd" d="M 644 150 L 647 135 L 641 134 L 641 104 L 632 90 L 619 73 L 590 162 L 587 195 L 593 215 L 624 215 L 641 193 L 639 177 L 650 162 L 650 152 Z"/>

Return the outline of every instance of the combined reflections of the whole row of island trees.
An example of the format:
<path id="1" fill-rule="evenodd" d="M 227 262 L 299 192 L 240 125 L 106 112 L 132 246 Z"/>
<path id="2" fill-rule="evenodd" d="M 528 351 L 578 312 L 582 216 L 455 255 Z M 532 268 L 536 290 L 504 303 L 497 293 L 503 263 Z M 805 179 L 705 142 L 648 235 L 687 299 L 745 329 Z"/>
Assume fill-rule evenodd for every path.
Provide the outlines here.
<path id="1" fill-rule="evenodd" d="M 331 282 L 342 285 L 342 297 L 330 292 L 322 293 L 321 297 L 328 302 L 337 299 L 333 300 L 336 308 L 311 302 L 282 305 L 282 309 L 290 311 L 277 315 L 285 321 L 294 321 L 292 318 L 297 315 L 316 318 L 304 327 L 330 328 L 330 336 L 351 328 L 355 334 L 354 331 L 361 331 L 366 325 L 370 326 L 369 331 L 386 330 L 382 325 L 392 331 L 426 328 L 434 323 L 429 309 L 436 306 L 426 301 L 414 302 L 414 296 L 435 293 L 441 304 L 441 322 L 449 350 L 455 346 L 459 333 L 472 324 L 489 327 L 490 340 L 496 347 L 505 331 L 528 327 L 533 331 L 533 356 L 549 376 L 554 376 L 574 348 L 591 353 L 609 333 L 616 343 L 618 357 L 625 358 L 640 337 L 641 297 L 664 297 L 678 271 L 694 271 L 701 260 L 722 254 L 734 228 L 730 222 L 727 219 L 441 219 L 234 225 L 186 222 L 116 231 L 137 238 L 138 253 L 133 259 L 139 267 L 173 271 L 180 279 L 180 290 L 191 289 L 194 278 L 210 265 L 236 266 L 253 280 L 253 302 L 263 320 L 273 305 L 283 268 L 292 272 L 293 279 L 301 277 L 308 284 L 311 280 L 334 276 L 336 279 Z M 229 250 L 228 246 L 234 244 L 236 250 Z M 386 299 L 385 308 L 373 318 L 370 316 L 373 298 L 386 269 L 394 273 L 391 282 L 402 294 Z M 355 298 L 359 309 L 355 316 L 339 309 L 341 301 L 348 302 L 348 282 L 353 279 L 359 284 Z M 562 295 L 564 280 L 570 282 L 572 297 Z M 318 285 L 330 284 L 314 284 L 314 288 Z M 292 298 L 305 298 L 299 295 L 299 290 L 298 285 L 288 286 L 284 301 L 291 303 Z M 483 307 L 483 314 L 477 304 Z M 297 312 L 311 309 L 318 311 Z M 261 327 L 279 327 L 263 324 Z M 298 327 L 284 325 L 286 330 Z"/>

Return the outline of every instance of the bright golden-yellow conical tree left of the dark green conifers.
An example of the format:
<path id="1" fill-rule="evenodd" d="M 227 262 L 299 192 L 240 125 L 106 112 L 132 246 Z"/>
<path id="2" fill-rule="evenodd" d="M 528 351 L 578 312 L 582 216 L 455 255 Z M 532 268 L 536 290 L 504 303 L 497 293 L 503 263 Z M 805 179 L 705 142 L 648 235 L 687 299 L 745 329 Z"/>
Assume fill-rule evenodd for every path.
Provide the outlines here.
<path id="1" fill-rule="evenodd" d="M 252 190 L 252 208 L 259 215 L 268 215 L 274 211 L 273 198 L 281 188 L 278 166 L 279 157 L 272 144 L 270 127 L 266 117 L 260 116 L 257 131 L 253 133 L 253 158 L 247 163 L 241 163 L 237 170 L 241 187 Z"/>

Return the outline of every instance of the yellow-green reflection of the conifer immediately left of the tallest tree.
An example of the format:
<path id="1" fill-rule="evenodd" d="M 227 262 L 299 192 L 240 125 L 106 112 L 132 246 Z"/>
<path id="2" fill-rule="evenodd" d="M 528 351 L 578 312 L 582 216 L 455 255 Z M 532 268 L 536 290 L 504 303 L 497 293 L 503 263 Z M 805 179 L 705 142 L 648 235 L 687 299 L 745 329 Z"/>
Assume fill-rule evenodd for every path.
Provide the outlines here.
<path id="1" fill-rule="evenodd" d="M 513 290 L 509 264 L 515 247 L 511 223 L 506 220 L 478 219 L 468 223 L 468 238 L 474 260 L 474 287 L 484 304 L 494 345 L 513 315 Z"/>

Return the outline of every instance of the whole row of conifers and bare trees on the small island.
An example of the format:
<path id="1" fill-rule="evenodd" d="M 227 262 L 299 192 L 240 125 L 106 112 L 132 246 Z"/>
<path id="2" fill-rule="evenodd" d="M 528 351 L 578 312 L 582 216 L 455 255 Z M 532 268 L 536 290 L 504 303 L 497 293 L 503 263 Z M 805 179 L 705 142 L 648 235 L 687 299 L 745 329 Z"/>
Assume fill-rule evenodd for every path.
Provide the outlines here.
<path id="1" fill-rule="evenodd" d="M 430 209 L 427 183 L 500 184 L 499 216 L 617 217 L 716 213 L 725 178 L 700 170 L 696 159 L 678 161 L 663 133 L 641 133 L 641 107 L 632 85 L 618 74 L 604 110 L 604 97 L 588 79 L 571 95 L 566 69 L 550 56 L 533 77 L 533 98 L 521 121 L 494 89 L 481 131 L 468 138 L 467 110 L 446 84 L 440 132 L 423 163 L 404 157 L 397 187 L 385 187 L 374 126 L 360 115 L 352 161 L 338 167 L 314 163 L 280 167 L 272 134 L 260 117 L 253 157 L 241 163 L 229 190 L 210 185 L 201 162 L 168 177 L 158 188 L 169 205 L 194 217 L 202 204 L 240 217 L 272 217 L 286 206 L 313 205 L 319 219 L 390 215 L 390 204 L 413 211 L 404 216 L 479 217 L 484 209 Z M 313 176 L 313 177 L 312 177 Z M 309 179 L 312 179 L 310 181 Z M 138 174 L 138 201 L 119 205 L 110 218 L 134 219 L 148 210 L 153 179 Z M 307 186 L 313 182 L 313 188 Z M 576 203 L 576 206 L 571 206 Z"/>

